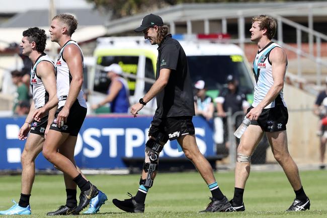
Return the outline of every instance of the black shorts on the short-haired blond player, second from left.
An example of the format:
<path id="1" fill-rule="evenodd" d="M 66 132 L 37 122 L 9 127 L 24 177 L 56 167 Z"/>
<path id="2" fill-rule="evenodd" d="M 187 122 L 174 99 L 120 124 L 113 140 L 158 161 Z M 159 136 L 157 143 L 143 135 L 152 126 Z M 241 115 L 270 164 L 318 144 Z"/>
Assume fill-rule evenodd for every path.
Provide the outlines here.
<path id="1" fill-rule="evenodd" d="M 57 121 L 57 116 L 58 113 L 62 110 L 63 107 L 60 107 L 57 109 L 55 113 L 55 119 L 53 120 L 50 129 L 59 131 L 59 132 L 64 132 L 64 133 L 69 133 L 69 135 L 72 136 L 77 136 L 78 132 L 80 130 L 80 127 L 82 126 L 85 117 L 87 115 L 87 108 L 82 107 L 79 105 L 78 101 L 76 100 L 74 104 L 71 106 L 69 110 L 69 115 L 67 117 L 67 121 L 63 126 L 60 128 L 58 127 L 56 121 Z"/>

